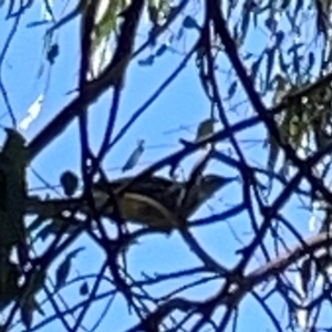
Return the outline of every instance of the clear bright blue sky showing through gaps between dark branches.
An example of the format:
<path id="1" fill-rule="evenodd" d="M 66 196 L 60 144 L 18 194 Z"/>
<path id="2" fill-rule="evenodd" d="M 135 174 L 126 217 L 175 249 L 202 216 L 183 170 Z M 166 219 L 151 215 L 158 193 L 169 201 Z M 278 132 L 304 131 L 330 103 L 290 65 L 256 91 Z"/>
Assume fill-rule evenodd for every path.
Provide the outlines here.
<path id="1" fill-rule="evenodd" d="M 3 14 L 4 12 L 0 11 L 2 18 Z M 0 30 L 3 31 L 0 37 L 1 46 L 3 38 L 12 24 L 12 21 L 3 23 L 2 18 L 0 20 Z M 38 80 L 40 65 L 44 61 L 42 53 L 44 28 L 25 28 L 27 23 L 35 21 L 37 18 L 40 18 L 40 7 L 34 4 L 22 18 L 20 29 L 7 55 L 7 61 L 2 65 L 2 80 L 9 91 L 9 97 L 18 120 L 22 120 L 27 115 L 28 107 L 43 92 L 45 85 L 45 75 L 41 80 Z M 45 95 L 42 112 L 29 129 L 24 132 L 28 141 L 54 116 L 55 112 L 59 112 L 73 97 L 72 95 L 66 95 L 66 93 L 75 87 L 77 77 L 80 56 L 76 28 L 77 24 L 73 22 L 63 27 L 60 31 L 60 55 L 51 69 L 51 83 Z M 177 28 L 174 29 L 176 30 Z M 188 51 L 196 37 L 196 31 L 187 31 L 185 40 L 179 41 L 176 49 L 179 52 Z M 137 41 L 138 43 L 144 41 L 144 29 Z M 268 40 L 263 30 L 257 29 L 249 34 L 246 43 L 246 48 L 255 50 L 256 54 L 258 54 L 259 50 L 267 45 Z M 137 60 L 144 59 L 146 55 L 148 53 L 138 56 Z M 167 52 L 164 56 L 158 58 L 152 66 L 139 66 L 137 60 L 133 62 L 126 77 L 126 87 L 123 93 L 115 132 L 121 129 L 131 115 L 167 79 L 181 59 L 183 56 L 178 53 Z M 222 63 L 221 61 L 218 64 L 221 69 L 225 69 L 227 65 L 226 62 Z M 218 79 L 219 86 L 221 86 L 221 94 L 226 96 L 231 80 L 227 80 L 227 76 L 222 73 L 220 73 Z M 91 142 L 94 147 L 97 147 L 97 144 L 102 139 L 101 129 L 106 122 L 107 112 L 111 106 L 111 96 L 110 93 L 105 94 L 91 110 Z M 238 93 L 236 98 L 226 102 L 226 106 L 229 107 L 228 115 L 230 122 L 252 115 L 252 111 L 248 110 L 248 104 L 238 107 L 236 111 L 231 108 L 243 100 L 245 95 Z M 2 100 L 0 105 L 1 110 L 6 110 Z M 190 61 L 170 86 L 132 126 L 128 134 L 111 151 L 105 162 L 106 169 L 110 170 L 110 177 L 113 178 L 122 175 L 121 167 L 135 148 L 138 139 L 143 138 L 146 141 L 146 151 L 138 165 L 125 175 L 136 174 L 167 154 L 178 151 L 180 148 L 179 138 L 194 139 L 197 125 L 209 117 L 209 104 L 200 86 L 195 63 Z M 3 120 L 1 124 L 9 125 L 9 118 Z M 187 127 L 188 131 L 178 129 L 180 126 Z M 264 132 L 261 128 L 255 128 L 239 135 L 239 137 L 259 139 L 263 138 L 263 134 Z M 33 169 L 52 185 L 59 184 L 59 178 L 64 170 L 70 169 L 79 174 L 80 149 L 77 142 L 77 125 L 74 123 L 34 160 L 32 165 Z M 222 148 L 226 151 L 227 146 Z M 253 165 L 266 165 L 267 151 L 262 148 L 262 143 L 253 145 L 252 148 L 242 145 L 242 149 L 248 160 L 252 162 Z M 199 155 L 188 158 L 188 162 L 184 163 L 186 173 L 188 173 L 190 165 L 193 165 L 193 162 L 197 157 Z M 211 170 L 224 175 L 228 175 L 231 172 L 228 167 L 217 163 L 212 163 L 210 167 Z M 31 175 L 30 179 L 32 188 L 42 186 L 33 175 Z M 218 193 L 209 201 L 208 207 L 203 208 L 195 217 L 207 216 L 211 210 L 215 212 L 222 211 L 226 207 L 239 203 L 241 199 L 240 185 L 240 183 L 234 184 Z M 277 193 L 278 189 L 276 190 Z M 307 228 L 308 221 L 305 220 L 308 220 L 309 215 L 305 210 L 298 207 L 299 201 L 291 201 L 289 207 L 284 208 L 284 214 L 297 217 L 294 224 L 303 230 Z M 194 234 L 207 252 L 222 264 L 231 267 L 237 261 L 235 261 L 235 258 L 238 259 L 234 253 L 235 250 L 243 246 L 243 242 L 248 242 L 251 238 L 252 232 L 250 234 L 249 231 L 248 217 L 243 214 L 236 217 L 229 224 L 227 220 L 222 220 L 220 224 L 200 227 L 194 230 Z M 239 243 L 235 234 L 243 241 L 242 243 Z M 294 243 L 294 239 L 291 242 Z M 73 249 L 82 245 L 85 246 L 85 250 L 80 252 L 74 261 L 70 280 L 85 273 L 97 272 L 102 263 L 102 251 L 86 237 L 83 237 L 75 243 Z M 61 260 L 55 261 L 53 267 L 56 268 L 60 262 Z M 258 257 L 258 260 L 253 260 L 251 266 L 257 267 L 260 262 L 262 262 L 261 257 Z M 131 273 L 135 278 L 142 279 L 142 272 L 151 276 L 154 273 L 167 273 L 178 269 L 195 267 L 198 264 L 198 260 L 183 243 L 178 235 L 173 234 L 170 237 L 159 235 L 142 240 L 129 250 L 127 264 Z M 152 293 L 163 294 L 185 282 L 185 280 L 180 280 L 160 284 L 152 289 Z M 89 283 L 92 286 L 92 280 Z M 69 304 L 75 303 L 80 299 L 79 288 L 82 282 L 77 282 L 63 289 L 62 294 Z M 195 290 L 189 290 L 184 294 L 195 299 L 207 298 L 209 294 L 216 292 L 219 287 L 220 281 L 210 282 Z M 105 282 L 102 290 L 106 291 L 110 288 L 110 284 Z M 278 299 L 273 301 L 277 308 L 279 305 Z M 93 309 L 85 320 L 86 326 L 91 328 L 94 324 L 104 305 L 105 301 L 100 304 L 93 304 Z M 280 307 L 280 312 L 281 309 Z M 127 308 L 124 305 L 124 300 L 121 295 L 116 295 L 110 313 L 97 331 L 110 331 L 110 326 L 112 326 L 112 331 L 123 331 L 129 326 L 129 322 L 131 319 Z M 268 318 L 250 295 L 241 304 L 238 331 L 248 331 L 248 326 L 250 326 L 250 330 L 258 329 L 258 331 L 264 331 L 264 328 L 270 328 Z M 56 321 L 43 328 L 42 331 L 62 331 L 61 329 L 63 329 L 61 323 Z"/>

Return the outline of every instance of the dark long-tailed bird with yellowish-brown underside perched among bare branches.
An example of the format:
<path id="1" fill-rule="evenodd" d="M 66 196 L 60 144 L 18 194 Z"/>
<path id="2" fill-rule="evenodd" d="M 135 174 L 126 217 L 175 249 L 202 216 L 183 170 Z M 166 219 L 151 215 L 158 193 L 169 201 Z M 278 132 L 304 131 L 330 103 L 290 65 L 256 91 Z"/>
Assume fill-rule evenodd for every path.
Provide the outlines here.
<path id="1" fill-rule="evenodd" d="M 151 176 L 143 180 L 135 180 L 134 177 L 98 180 L 92 189 L 94 208 L 101 217 L 116 219 L 115 198 L 121 220 L 169 234 L 185 226 L 187 219 L 206 200 L 234 179 L 235 177 L 209 174 L 200 176 L 194 184 L 190 180 L 177 181 L 162 176 Z M 44 215 L 69 209 L 83 214 L 91 210 L 86 203 L 82 204 L 79 199 L 68 200 L 68 205 L 66 199 L 33 200 L 29 207 L 30 212 Z"/>

